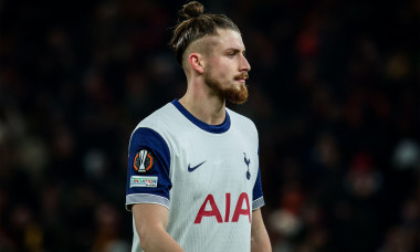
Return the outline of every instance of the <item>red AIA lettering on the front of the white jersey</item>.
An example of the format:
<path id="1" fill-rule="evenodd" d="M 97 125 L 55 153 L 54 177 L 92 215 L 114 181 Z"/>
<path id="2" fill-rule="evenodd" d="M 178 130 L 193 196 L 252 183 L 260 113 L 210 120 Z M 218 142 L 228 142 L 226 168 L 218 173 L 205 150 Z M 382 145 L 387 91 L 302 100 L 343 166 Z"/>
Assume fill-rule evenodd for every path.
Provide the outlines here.
<path id="1" fill-rule="evenodd" d="M 202 218 L 213 218 L 218 223 L 223 222 L 238 222 L 240 219 L 246 219 L 251 223 L 251 208 L 250 208 L 250 200 L 246 192 L 242 192 L 237 203 L 232 207 L 234 207 L 232 219 L 230 219 L 230 211 L 231 211 L 231 195 L 225 193 L 224 196 L 225 200 L 225 209 L 224 209 L 224 218 L 222 218 L 221 211 L 223 209 L 220 209 L 218 204 L 214 201 L 214 197 L 212 195 L 208 195 L 204 199 L 204 202 L 201 204 L 200 210 L 197 213 L 195 224 L 201 223 Z M 245 204 L 245 207 L 243 207 Z M 206 210 L 210 209 L 210 210 Z M 240 218 L 241 216 L 244 216 L 243 218 Z M 246 218 L 248 217 L 248 218 Z"/>

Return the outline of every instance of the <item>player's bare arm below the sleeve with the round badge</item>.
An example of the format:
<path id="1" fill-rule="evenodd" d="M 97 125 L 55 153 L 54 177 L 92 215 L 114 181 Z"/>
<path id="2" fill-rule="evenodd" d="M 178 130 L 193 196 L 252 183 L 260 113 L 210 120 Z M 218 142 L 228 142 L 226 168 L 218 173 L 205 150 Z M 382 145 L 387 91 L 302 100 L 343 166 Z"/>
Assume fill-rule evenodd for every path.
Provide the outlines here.
<path id="1" fill-rule="evenodd" d="M 133 206 L 136 230 L 145 252 L 183 252 L 181 246 L 166 231 L 168 209 L 156 203 Z"/>

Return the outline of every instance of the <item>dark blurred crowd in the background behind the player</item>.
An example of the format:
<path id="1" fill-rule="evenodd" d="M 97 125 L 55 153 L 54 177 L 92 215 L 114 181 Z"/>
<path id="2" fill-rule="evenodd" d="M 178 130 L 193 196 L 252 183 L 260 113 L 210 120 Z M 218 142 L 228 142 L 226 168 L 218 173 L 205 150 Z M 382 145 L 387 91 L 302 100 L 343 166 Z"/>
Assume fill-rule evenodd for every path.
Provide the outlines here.
<path id="1" fill-rule="evenodd" d="M 208 0 L 241 29 L 274 252 L 420 251 L 420 1 Z M 185 1 L 0 1 L 0 251 L 129 251 L 127 148 Z"/>

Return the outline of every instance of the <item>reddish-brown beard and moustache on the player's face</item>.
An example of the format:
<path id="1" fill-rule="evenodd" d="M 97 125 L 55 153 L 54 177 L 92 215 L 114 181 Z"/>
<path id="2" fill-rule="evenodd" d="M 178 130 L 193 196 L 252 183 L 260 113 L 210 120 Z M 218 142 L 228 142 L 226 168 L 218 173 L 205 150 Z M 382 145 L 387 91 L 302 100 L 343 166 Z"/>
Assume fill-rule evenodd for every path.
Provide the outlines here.
<path id="1" fill-rule="evenodd" d="M 235 76 L 234 80 L 240 80 L 243 77 L 248 78 L 246 72 Z M 216 94 L 233 104 L 243 104 L 248 101 L 248 88 L 245 84 L 241 84 L 239 88 L 237 86 L 232 86 L 230 83 L 225 83 L 225 85 L 223 85 L 223 83 L 217 81 L 209 73 L 206 74 L 204 81 L 206 84 L 216 92 Z"/>

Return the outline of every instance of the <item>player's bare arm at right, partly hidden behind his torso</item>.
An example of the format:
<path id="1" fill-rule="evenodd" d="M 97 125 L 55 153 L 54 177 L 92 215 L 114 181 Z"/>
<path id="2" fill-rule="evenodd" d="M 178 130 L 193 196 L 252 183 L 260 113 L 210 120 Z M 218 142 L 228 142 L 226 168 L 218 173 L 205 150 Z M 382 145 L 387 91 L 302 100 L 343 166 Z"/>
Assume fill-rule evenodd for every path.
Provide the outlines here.
<path id="1" fill-rule="evenodd" d="M 252 211 L 251 225 L 251 251 L 252 252 L 271 252 L 269 233 L 266 232 L 264 221 L 261 216 L 261 209 Z"/>

